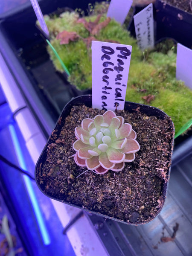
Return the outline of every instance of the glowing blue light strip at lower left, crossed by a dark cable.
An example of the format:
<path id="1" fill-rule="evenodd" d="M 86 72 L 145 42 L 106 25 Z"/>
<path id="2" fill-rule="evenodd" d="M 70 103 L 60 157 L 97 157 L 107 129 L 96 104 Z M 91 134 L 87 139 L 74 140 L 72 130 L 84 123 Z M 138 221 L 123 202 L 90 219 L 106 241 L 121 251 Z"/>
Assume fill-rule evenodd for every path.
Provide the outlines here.
<path id="1" fill-rule="evenodd" d="M 19 140 L 17 138 L 15 128 L 12 124 L 9 125 L 9 131 L 10 131 L 10 134 L 11 134 L 11 137 L 12 137 L 12 141 L 13 141 L 13 145 L 14 145 L 14 148 L 15 148 L 15 153 L 17 155 L 17 160 L 19 162 L 19 165 L 23 170 L 26 171 L 26 164 L 25 164 L 25 160 L 24 160 L 21 148 L 20 148 L 20 143 L 19 143 Z M 34 209 L 34 213 L 35 213 L 35 216 L 36 216 L 36 220 L 38 222 L 38 226 L 39 226 L 39 230 L 41 232 L 42 239 L 44 241 L 44 244 L 48 245 L 48 244 L 50 244 L 50 237 L 49 237 L 49 234 L 47 232 L 47 228 L 44 224 L 44 220 L 43 220 L 43 217 L 41 215 L 41 210 L 39 208 L 39 205 L 38 205 L 38 202 L 37 202 L 37 199 L 36 199 L 36 196 L 35 196 L 35 192 L 32 188 L 31 180 L 26 175 L 23 175 L 23 180 L 25 182 L 26 189 L 27 189 L 27 192 L 29 194 L 29 198 L 31 199 L 32 207 Z"/>

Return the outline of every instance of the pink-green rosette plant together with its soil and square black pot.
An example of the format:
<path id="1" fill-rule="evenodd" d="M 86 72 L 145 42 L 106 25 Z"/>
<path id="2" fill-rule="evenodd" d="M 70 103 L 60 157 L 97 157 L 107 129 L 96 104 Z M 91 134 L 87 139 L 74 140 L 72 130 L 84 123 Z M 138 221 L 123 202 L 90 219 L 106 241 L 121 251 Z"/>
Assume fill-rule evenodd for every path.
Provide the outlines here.
<path id="1" fill-rule="evenodd" d="M 112 111 L 91 108 L 91 99 L 90 95 L 79 96 L 65 106 L 36 164 L 38 187 L 50 198 L 89 212 L 127 224 L 147 223 L 160 212 L 166 197 L 173 123 L 163 111 L 133 102 L 125 102 L 124 111 L 117 110 L 111 116 Z M 114 127 L 110 125 L 112 118 L 113 125 L 118 122 Z M 123 125 L 124 122 L 129 125 Z M 106 134 L 106 140 L 102 139 L 104 149 L 102 143 L 96 149 L 93 144 L 100 140 L 102 133 Z M 119 139 L 114 139 L 114 134 Z M 129 149 L 122 146 L 128 140 Z M 90 151 L 84 148 L 85 143 L 90 144 Z M 123 153 L 114 148 L 128 152 L 122 162 L 119 159 Z M 76 153 L 79 149 L 80 153 Z M 106 154 L 108 158 L 103 157 Z"/>

